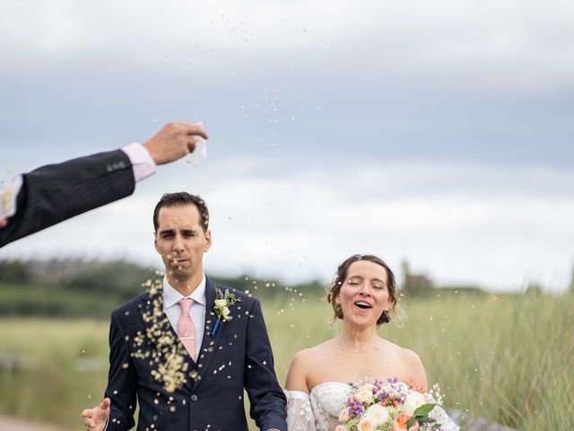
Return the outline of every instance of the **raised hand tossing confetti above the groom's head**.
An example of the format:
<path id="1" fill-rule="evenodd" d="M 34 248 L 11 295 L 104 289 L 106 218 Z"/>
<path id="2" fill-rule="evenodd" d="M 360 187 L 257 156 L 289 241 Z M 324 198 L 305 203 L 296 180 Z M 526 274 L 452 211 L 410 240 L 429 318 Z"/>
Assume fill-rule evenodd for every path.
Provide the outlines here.
<path id="1" fill-rule="evenodd" d="M 156 164 L 176 161 L 196 149 L 196 137 L 208 139 L 207 132 L 198 124 L 171 122 L 143 143 Z"/>

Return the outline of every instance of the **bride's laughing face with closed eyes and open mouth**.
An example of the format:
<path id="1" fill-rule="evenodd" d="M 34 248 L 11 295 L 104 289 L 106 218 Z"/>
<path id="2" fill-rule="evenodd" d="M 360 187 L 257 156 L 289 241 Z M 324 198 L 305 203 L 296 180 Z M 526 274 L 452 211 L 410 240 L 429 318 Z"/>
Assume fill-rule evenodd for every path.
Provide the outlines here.
<path id="1" fill-rule="evenodd" d="M 378 318 L 391 308 L 387 270 L 370 260 L 357 260 L 347 271 L 339 295 L 343 319 L 360 326 L 377 325 Z"/>

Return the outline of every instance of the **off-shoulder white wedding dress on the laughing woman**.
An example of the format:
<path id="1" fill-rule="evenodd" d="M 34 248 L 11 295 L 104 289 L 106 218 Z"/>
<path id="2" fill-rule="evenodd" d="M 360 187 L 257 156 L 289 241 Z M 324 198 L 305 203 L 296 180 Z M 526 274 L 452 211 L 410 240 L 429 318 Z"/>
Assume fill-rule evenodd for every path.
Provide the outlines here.
<path id="1" fill-rule="evenodd" d="M 352 388 L 347 383 L 326 382 L 315 386 L 310 393 L 285 391 L 287 396 L 287 428 L 289 431 L 334 431 L 339 425 L 339 412 L 349 398 Z M 457 425 L 447 413 L 437 407 L 435 417 L 443 431 L 457 431 Z"/>

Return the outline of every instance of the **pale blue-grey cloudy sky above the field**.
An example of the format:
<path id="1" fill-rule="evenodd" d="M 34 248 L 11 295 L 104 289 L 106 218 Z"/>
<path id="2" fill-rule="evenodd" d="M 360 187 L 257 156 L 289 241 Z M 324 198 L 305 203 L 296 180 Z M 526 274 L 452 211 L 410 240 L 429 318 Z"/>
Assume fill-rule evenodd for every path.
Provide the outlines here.
<path id="1" fill-rule="evenodd" d="M 0 1 L 0 172 L 212 139 L 135 195 L 0 251 L 159 265 L 163 192 L 212 211 L 208 273 L 327 281 L 354 252 L 554 291 L 574 265 L 574 4 Z M 400 272 L 400 271 L 399 271 Z"/>

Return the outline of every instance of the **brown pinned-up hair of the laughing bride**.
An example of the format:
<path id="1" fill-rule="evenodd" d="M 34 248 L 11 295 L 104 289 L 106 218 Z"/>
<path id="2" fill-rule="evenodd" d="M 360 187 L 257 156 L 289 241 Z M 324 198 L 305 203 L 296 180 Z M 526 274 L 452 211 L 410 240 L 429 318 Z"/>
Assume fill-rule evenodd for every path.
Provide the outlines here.
<path id="1" fill-rule="evenodd" d="M 343 310 L 341 309 L 340 304 L 335 303 L 335 298 L 339 295 L 339 292 L 341 292 L 341 287 L 343 286 L 344 280 L 347 278 L 349 267 L 351 267 L 351 264 L 357 260 L 369 260 L 370 262 L 376 263 L 377 265 L 385 268 L 385 271 L 387 272 L 387 291 L 388 296 L 393 301 L 393 305 L 391 305 L 391 309 L 388 312 L 385 311 L 380 315 L 377 320 L 377 326 L 380 326 L 383 323 L 388 323 L 391 321 L 391 315 L 396 317 L 397 296 L 395 274 L 393 274 L 393 271 L 388 267 L 387 263 L 385 263 L 383 259 L 373 256 L 372 254 L 353 254 L 350 258 L 345 259 L 337 268 L 335 280 L 327 286 L 326 295 L 326 300 L 333 307 L 334 316 L 332 321 L 334 322 L 336 319 L 343 319 Z"/>

